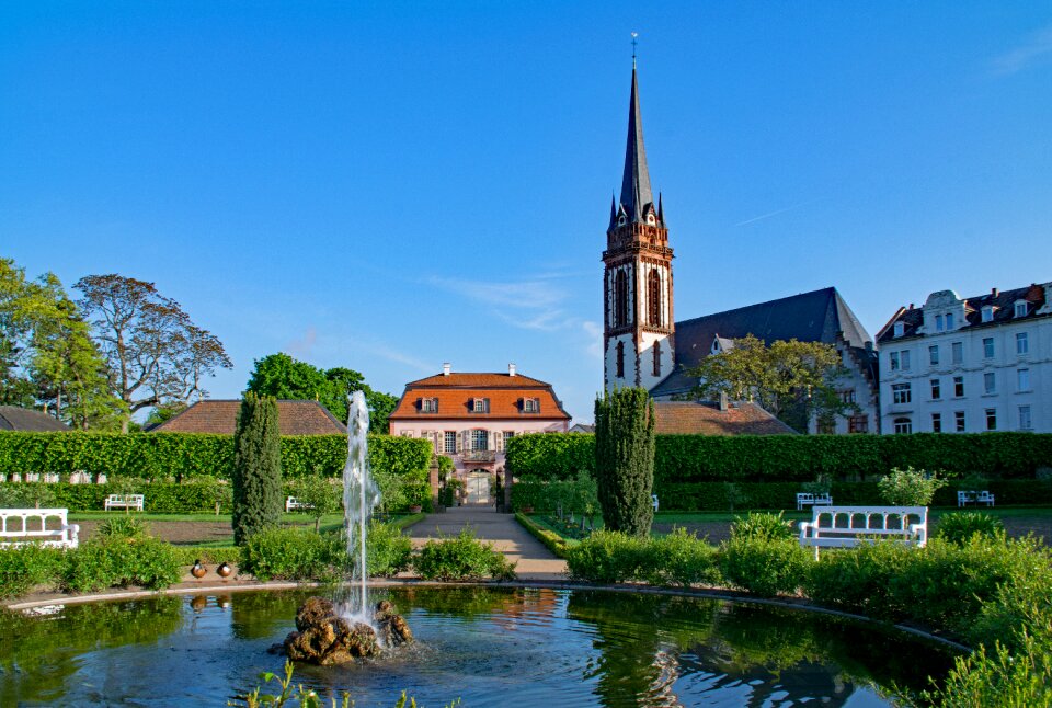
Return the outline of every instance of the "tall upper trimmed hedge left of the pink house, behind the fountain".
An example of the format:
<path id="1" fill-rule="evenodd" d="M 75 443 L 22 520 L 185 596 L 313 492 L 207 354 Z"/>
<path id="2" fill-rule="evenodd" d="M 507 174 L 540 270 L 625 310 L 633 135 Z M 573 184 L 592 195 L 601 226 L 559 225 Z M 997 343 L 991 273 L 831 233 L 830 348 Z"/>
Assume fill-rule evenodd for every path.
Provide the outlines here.
<path id="1" fill-rule="evenodd" d="M 396 475 L 427 479 L 427 441 L 369 435 L 369 465 Z M 335 477 L 347 459 L 343 435 L 282 437 L 282 476 Z M 89 475 L 157 479 L 211 475 L 230 479 L 233 436 L 198 433 L 16 433 L 0 432 L 0 473 L 83 470 Z"/>

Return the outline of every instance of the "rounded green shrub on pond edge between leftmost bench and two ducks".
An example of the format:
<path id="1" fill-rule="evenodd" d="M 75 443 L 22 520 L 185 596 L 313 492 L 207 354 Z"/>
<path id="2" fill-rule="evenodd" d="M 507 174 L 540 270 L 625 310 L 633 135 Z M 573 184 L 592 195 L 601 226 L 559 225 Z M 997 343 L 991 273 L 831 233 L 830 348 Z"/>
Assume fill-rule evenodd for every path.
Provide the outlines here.
<path id="1" fill-rule="evenodd" d="M 72 592 L 139 585 L 150 590 L 180 581 L 174 547 L 149 536 L 94 538 L 66 553 L 62 586 Z"/>

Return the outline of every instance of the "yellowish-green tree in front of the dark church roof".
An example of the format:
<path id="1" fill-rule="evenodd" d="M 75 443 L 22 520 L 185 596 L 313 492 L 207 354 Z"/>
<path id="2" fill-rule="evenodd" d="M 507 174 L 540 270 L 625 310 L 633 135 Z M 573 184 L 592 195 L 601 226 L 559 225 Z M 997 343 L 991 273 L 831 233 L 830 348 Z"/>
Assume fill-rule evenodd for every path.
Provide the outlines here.
<path id="1" fill-rule="evenodd" d="M 755 400 L 801 432 L 807 432 L 811 415 L 828 421 L 855 410 L 836 392 L 837 379 L 847 374 L 841 355 L 822 342 L 779 340 L 768 346 L 748 335 L 687 373 L 699 379 L 697 397 L 713 400 L 725 393 L 733 400 Z"/>

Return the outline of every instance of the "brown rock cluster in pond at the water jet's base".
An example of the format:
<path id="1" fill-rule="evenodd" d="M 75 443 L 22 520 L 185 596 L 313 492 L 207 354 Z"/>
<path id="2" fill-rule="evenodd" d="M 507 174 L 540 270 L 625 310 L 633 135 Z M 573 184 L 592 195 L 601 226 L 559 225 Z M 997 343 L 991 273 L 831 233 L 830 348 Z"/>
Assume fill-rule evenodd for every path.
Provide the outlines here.
<path id="1" fill-rule="evenodd" d="M 332 666 L 375 656 L 385 646 L 392 648 L 412 642 L 409 625 L 392 610 L 389 602 L 377 604 L 373 615 L 377 629 L 374 629 L 365 623 L 341 617 L 328 599 L 311 597 L 296 613 L 297 631 L 285 638 L 285 653 L 293 661 Z"/>

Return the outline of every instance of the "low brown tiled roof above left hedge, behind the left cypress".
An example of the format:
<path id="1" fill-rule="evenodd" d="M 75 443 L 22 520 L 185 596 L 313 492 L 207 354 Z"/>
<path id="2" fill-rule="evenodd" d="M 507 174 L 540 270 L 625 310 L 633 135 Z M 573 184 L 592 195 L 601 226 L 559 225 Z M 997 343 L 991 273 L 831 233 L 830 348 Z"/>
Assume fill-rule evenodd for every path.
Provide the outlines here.
<path id="1" fill-rule="evenodd" d="M 239 400 L 197 401 L 151 433 L 214 433 L 233 435 Z M 277 427 L 282 435 L 346 435 L 347 426 L 318 401 L 278 401 Z M 382 431 L 387 433 L 387 431 Z"/>

